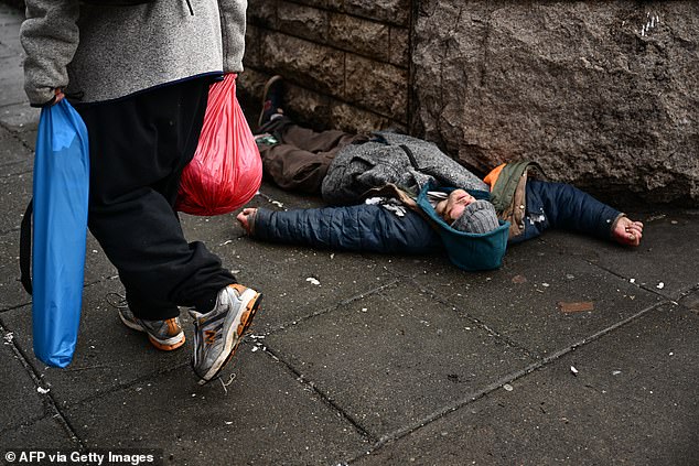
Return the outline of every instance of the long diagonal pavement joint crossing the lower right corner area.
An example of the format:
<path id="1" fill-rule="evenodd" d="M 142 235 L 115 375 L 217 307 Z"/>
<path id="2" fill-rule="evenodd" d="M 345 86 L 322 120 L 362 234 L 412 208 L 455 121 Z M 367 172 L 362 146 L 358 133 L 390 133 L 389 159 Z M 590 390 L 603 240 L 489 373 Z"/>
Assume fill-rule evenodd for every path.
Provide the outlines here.
<path id="1" fill-rule="evenodd" d="M 461 400 L 458 400 L 449 405 L 443 407 L 442 409 L 439 409 L 434 412 L 432 412 L 431 414 L 428 414 L 427 416 L 422 418 L 421 420 L 411 423 L 405 427 L 401 429 L 397 429 L 394 432 L 390 432 L 384 436 L 381 436 L 378 442 L 376 442 L 376 444 L 374 444 L 370 448 L 368 448 L 367 451 L 365 451 L 362 455 L 357 455 L 352 457 L 351 459 L 348 459 L 346 462 L 346 464 L 352 464 L 355 460 L 358 460 L 359 458 L 381 448 L 384 445 L 387 445 L 388 443 L 395 442 L 397 440 L 400 440 L 407 435 L 412 434 L 413 432 L 418 431 L 419 429 L 424 427 L 426 425 L 430 424 L 431 422 L 434 422 L 445 415 L 448 415 L 451 412 L 458 411 L 464 407 L 466 407 L 467 404 L 471 404 L 472 402 L 480 400 L 483 397 L 486 397 L 487 394 L 498 390 L 499 388 L 502 388 L 503 386 L 505 386 L 506 383 L 512 383 L 517 379 L 520 379 L 531 372 L 535 372 L 537 370 L 540 370 L 545 367 L 547 367 L 548 365 L 557 361 L 558 359 L 560 359 L 561 357 L 573 353 L 576 349 L 591 343 L 594 342 L 610 333 L 612 333 L 613 330 L 615 330 L 616 328 L 620 328 L 628 323 L 631 323 L 632 321 L 635 321 L 638 317 L 642 317 L 643 315 L 663 306 L 664 304 L 668 304 L 668 302 L 662 302 L 662 303 L 656 303 L 654 305 L 650 305 L 648 307 L 646 307 L 645 310 L 642 310 L 639 312 L 637 312 L 636 314 L 626 317 L 600 332 L 596 332 L 594 334 L 592 334 L 591 336 L 583 338 L 580 342 L 573 343 L 570 347 L 568 348 L 563 348 L 563 349 L 559 349 L 558 351 L 555 351 L 544 358 L 541 358 L 540 360 L 533 362 L 519 370 L 516 370 L 507 376 L 504 376 L 502 378 L 499 378 L 498 380 L 496 380 L 495 382 L 492 382 L 487 386 L 485 386 L 483 389 L 477 390 L 475 392 L 472 392 L 470 394 L 467 394 L 466 397 L 462 398 Z"/>

